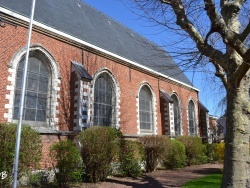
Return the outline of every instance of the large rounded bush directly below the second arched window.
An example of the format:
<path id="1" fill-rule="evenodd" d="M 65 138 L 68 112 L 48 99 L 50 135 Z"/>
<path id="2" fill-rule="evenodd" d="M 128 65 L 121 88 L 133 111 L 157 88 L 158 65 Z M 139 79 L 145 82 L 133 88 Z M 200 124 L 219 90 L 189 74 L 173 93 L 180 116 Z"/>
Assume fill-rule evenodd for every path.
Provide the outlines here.
<path id="1" fill-rule="evenodd" d="M 92 127 L 81 132 L 82 159 L 92 182 L 105 181 L 111 172 L 111 163 L 118 159 L 118 131 L 111 127 Z"/>

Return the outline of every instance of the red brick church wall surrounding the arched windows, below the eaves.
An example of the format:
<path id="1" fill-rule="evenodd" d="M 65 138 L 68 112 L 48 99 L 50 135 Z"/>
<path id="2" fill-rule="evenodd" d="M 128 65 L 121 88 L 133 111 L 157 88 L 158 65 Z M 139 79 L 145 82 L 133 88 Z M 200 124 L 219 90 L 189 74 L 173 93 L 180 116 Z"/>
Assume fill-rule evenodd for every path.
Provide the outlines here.
<path id="1" fill-rule="evenodd" d="M 6 86 L 9 84 L 7 77 L 7 64 L 11 61 L 14 54 L 24 48 L 27 42 L 28 30 L 24 27 L 6 25 L 5 28 L 0 29 L 0 121 L 6 121 L 4 113 L 7 112 L 5 104 L 8 103 L 5 96 L 8 94 Z M 39 44 L 47 49 L 55 58 L 59 65 L 60 74 L 62 76 L 60 85 L 60 100 L 59 102 L 59 128 L 61 130 L 70 130 L 70 68 L 71 61 L 75 60 L 82 62 L 82 49 L 72 45 L 63 43 L 59 40 L 50 38 L 44 34 L 33 32 L 31 44 Z M 139 72 L 135 69 L 130 69 L 125 65 L 118 64 L 107 58 L 94 55 L 90 52 L 84 53 L 84 66 L 93 76 L 97 70 L 107 68 L 110 70 L 120 86 L 120 124 L 121 130 L 125 134 L 137 133 L 137 107 L 136 97 L 138 95 L 139 87 L 142 83 L 147 82 L 156 97 L 156 113 L 157 113 L 157 133 L 162 134 L 161 114 L 160 114 L 160 96 L 159 89 L 165 90 L 168 94 L 173 92 L 178 94 L 182 104 L 182 123 L 184 133 L 187 134 L 187 105 L 190 99 L 195 101 L 197 108 L 198 96 L 197 92 L 189 91 L 183 87 L 167 83 L 164 80 L 158 80 L 155 77 Z"/>

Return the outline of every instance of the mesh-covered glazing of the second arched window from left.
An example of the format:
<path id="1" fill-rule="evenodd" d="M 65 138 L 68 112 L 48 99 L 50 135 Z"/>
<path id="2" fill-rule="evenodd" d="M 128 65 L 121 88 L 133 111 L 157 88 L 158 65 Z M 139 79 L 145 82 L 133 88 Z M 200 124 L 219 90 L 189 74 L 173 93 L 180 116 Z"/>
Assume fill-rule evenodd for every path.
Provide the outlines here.
<path id="1" fill-rule="evenodd" d="M 113 82 L 107 73 L 103 73 L 95 81 L 94 125 L 115 126 L 115 104 Z"/>

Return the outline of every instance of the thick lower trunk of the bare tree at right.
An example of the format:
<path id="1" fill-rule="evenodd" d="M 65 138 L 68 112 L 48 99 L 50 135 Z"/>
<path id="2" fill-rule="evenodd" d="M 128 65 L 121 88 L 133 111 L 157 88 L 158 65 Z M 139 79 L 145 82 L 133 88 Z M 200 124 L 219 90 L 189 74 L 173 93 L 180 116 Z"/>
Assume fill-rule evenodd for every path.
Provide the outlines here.
<path id="1" fill-rule="evenodd" d="M 249 117 L 249 76 L 239 84 L 229 78 L 222 188 L 250 187 Z"/>

